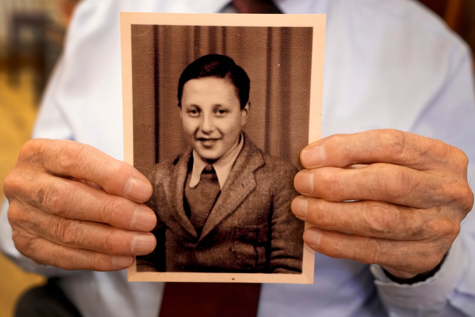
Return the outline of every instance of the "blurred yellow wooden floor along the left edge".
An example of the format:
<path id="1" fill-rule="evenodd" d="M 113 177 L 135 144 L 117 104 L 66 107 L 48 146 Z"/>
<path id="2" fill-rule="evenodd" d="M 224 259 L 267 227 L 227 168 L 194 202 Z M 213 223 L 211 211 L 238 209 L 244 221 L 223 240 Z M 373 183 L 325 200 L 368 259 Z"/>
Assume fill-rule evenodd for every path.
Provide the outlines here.
<path id="1" fill-rule="evenodd" d="M 0 199 L 3 200 L 3 179 L 15 164 L 19 149 L 30 136 L 36 115 L 31 73 L 24 71 L 20 85 L 7 84 L 7 75 L 0 69 Z M 0 254 L 0 316 L 10 317 L 16 300 L 25 289 L 42 283 L 36 274 L 26 273 Z"/>

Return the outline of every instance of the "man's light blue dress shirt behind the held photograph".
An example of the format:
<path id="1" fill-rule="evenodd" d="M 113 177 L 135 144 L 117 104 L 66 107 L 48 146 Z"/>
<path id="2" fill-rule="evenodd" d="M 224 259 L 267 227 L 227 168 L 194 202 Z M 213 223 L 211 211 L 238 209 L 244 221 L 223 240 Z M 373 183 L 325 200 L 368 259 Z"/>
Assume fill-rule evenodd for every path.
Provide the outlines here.
<path id="1" fill-rule="evenodd" d="M 475 162 L 475 101 L 466 45 L 409 0 L 277 0 L 284 13 L 326 13 L 322 135 L 395 128 L 461 148 Z M 84 0 L 46 95 L 34 137 L 74 139 L 123 159 L 119 11 L 222 12 L 227 0 Z M 63 276 L 85 317 L 155 317 L 163 283 L 126 271 L 38 266 L 11 240 L 4 203 L 0 247 L 25 269 Z M 424 282 L 399 285 L 377 265 L 315 258 L 313 285 L 263 285 L 258 315 L 475 316 L 475 223 L 462 223 L 447 260 Z"/>

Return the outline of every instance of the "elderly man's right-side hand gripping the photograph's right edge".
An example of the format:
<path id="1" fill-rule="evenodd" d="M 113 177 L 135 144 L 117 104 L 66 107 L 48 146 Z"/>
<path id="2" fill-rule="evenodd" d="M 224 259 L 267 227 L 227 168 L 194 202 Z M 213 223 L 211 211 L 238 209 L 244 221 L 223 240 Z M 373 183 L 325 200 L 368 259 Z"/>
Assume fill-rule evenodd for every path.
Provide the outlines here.
<path id="1" fill-rule="evenodd" d="M 303 196 L 292 211 L 315 226 L 304 241 L 399 278 L 435 268 L 473 206 L 466 155 L 416 134 L 332 135 L 305 147 L 300 159 L 306 170 L 294 185 Z"/>

